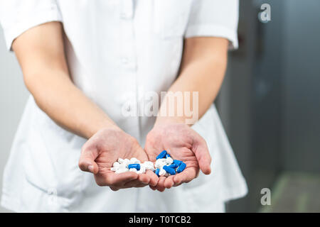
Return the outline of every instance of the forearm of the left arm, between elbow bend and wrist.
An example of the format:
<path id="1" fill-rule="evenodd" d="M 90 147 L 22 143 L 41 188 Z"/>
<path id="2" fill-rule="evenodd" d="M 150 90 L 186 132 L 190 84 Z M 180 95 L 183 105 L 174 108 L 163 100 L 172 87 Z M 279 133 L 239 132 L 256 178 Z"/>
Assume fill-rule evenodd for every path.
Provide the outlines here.
<path id="1" fill-rule="evenodd" d="M 25 78 L 36 104 L 66 130 L 90 138 L 101 128 L 116 127 L 102 109 L 75 87 L 65 72 L 48 69 Z"/>

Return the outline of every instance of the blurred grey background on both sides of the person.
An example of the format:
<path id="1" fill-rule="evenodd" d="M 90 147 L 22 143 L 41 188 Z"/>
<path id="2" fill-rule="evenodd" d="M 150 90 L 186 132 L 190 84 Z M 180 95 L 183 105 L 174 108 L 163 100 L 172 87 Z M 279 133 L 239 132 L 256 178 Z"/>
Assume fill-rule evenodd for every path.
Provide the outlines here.
<path id="1" fill-rule="evenodd" d="M 268 23 L 257 17 L 263 3 Z M 319 0 L 240 1 L 240 48 L 230 52 L 216 104 L 249 194 L 228 211 L 320 212 L 319 11 Z M 27 97 L 0 28 L 1 182 Z M 271 189 L 271 206 L 260 204 L 262 188 Z"/>

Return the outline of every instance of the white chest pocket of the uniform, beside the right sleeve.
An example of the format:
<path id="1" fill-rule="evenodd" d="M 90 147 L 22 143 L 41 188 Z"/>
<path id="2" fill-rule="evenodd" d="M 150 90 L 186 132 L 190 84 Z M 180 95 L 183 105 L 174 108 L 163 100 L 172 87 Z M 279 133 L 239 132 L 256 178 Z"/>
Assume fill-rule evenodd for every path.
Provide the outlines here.
<path id="1" fill-rule="evenodd" d="M 186 31 L 191 0 L 154 0 L 154 33 L 159 38 L 181 38 Z"/>

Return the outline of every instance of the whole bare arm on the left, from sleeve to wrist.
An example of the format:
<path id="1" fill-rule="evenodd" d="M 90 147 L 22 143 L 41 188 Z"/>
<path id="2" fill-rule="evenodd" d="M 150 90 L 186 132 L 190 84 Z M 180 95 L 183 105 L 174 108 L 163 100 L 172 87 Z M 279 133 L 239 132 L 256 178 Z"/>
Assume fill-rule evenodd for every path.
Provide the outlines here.
<path id="1" fill-rule="evenodd" d="M 70 79 L 65 60 L 63 26 L 45 23 L 18 36 L 12 45 L 26 87 L 38 106 L 58 125 L 90 138 L 114 126 L 108 116 Z"/>

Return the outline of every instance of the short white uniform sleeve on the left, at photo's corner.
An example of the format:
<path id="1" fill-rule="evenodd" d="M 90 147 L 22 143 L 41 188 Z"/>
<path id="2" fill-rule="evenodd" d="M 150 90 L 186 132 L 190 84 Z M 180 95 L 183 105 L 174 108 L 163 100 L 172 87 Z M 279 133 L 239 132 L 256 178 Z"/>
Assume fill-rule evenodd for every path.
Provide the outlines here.
<path id="1" fill-rule="evenodd" d="M 9 50 L 21 33 L 49 21 L 62 21 L 55 0 L 0 0 L 0 23 Z"/>

